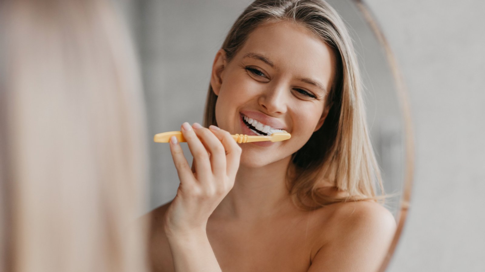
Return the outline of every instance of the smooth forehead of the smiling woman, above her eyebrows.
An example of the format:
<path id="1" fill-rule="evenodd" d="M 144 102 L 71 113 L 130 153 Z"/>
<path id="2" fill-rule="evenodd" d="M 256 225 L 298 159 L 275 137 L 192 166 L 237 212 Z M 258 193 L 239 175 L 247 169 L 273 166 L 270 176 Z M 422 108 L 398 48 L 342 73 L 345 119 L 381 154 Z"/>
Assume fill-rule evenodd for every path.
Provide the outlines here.
<path id="1" fill-rule="evenodd" d="M 304 26 L 292 22 L 278 21 L 256 28 L 236 57 L 248 53 L 265 56 L 280 72 L 315 78 L 325 85 L 334 72 L 331 47 Z"/>

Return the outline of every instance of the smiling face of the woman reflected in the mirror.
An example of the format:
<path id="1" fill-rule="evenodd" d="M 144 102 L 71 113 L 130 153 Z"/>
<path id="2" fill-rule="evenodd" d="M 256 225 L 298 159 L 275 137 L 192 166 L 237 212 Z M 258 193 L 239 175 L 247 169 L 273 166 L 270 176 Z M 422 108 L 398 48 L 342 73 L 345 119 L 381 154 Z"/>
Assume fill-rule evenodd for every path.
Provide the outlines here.
<path id="1" fill-rule="evenodd" d="M 218 96 L 218 126 L 231 134 L 256 135 L 243 121 L 247 116 L 291 134 L 281 142 L 240 144 L 241 166 L 287 158 L 322 126 L 334 63 L 328 45 L 305 27 L 284 21 L 254 30 L 230 62 L 223 50 L 217 53 L 211 85 Z"/>

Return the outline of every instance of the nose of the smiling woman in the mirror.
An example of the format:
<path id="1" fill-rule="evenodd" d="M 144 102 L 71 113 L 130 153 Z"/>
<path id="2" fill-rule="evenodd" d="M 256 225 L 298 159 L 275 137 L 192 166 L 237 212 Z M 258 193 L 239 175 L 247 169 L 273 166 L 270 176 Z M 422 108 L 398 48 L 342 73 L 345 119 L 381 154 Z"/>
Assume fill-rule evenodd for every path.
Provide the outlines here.
<path id="1" fill-rule="evenodd" d="M 268 113 L 283 114 L 287 110 L 288 88 L 284 84 L 268 86 L 258 98 L 258 104 Z"/>

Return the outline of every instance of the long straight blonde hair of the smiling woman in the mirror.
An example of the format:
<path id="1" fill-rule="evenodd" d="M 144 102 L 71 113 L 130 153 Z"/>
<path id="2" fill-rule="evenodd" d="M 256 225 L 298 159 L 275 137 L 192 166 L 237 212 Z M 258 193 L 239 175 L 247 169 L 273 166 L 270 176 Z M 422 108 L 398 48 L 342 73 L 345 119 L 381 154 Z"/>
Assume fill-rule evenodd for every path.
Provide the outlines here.
<path id="1" fill-rule="evenodd" d="M 253 30 L 268 22 L 290 20 L 306 27 L 333 48 L 336 75 L 326 100 L 330 107 L 323 126 L 292 154 L 287 186 L 293 201 L 304 209 L 347 200 L 381 199 L 380 171 L 369 139 L 362 82 L 352 40 L 337 12 L 323 0 L 256 0 L 239 16 L 224 41 L 228 61 Z M 217 96 L 209 86 L 204 125 L 217 125 Z M 340 196 L 321 191 L 330 181 Z"/>

